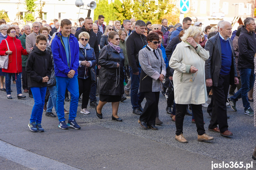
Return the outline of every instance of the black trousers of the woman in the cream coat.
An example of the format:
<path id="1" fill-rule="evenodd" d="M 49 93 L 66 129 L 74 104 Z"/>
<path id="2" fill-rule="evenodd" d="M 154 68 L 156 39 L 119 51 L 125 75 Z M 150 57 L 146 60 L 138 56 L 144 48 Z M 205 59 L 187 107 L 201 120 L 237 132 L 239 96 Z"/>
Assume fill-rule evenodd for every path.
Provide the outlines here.
<path id="1" fill-rule="evenodd" d="M 176 116 L 175 116 L 175 125 L 176 125 L 176 135 L 179 136 L 183 133 L 183 121 L 184 116 L 187 110 L 187 104 L 175 104 L 176 105 Z M 201 104 L 191 104 L 194 118 L 195 118 L 195 125 L 196 131 L 198 135 L 205 134 L 205 130 L 203 127 L 203 111 Z"/>

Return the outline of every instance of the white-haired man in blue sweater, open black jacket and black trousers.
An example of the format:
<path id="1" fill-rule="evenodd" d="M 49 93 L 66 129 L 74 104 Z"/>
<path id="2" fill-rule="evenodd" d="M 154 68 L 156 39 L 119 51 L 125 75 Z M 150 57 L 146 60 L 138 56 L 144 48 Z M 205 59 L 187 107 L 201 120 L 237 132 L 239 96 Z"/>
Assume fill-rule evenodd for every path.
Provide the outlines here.
<path id="1" fill-rule="evenodd" d="M 205 45 L 210 57 L 205 61 L 206 86 L 212 87 L 212 118 L 209 131 L 220 133 L 222 136 L 232 136 L 228 130 L 227 106 L 229 85 L 238 84 L 235 52 L 230 40 L 232 26 L 229 22 L 220 23 L 220 32 L 210 38 Z M 219 128 L 217 127 L 219 124 Z"/>

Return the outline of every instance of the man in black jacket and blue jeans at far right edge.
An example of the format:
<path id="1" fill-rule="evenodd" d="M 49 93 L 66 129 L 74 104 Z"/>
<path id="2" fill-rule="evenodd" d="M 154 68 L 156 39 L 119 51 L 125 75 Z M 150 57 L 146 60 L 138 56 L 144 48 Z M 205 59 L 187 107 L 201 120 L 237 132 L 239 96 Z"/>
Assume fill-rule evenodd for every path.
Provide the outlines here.
<path id="1" fill-rule="evenodd" d="M 247 93 L 253 88 L 254 75 L 254 55 L 256 53 L 256 35 L 255 21 L 253 18 L 246 18 L 242 26 L 241 33 L 238 38 L 238 69 L 240 70 L 241 89 L 239 89 L 232 97 L 228 98 L 231 108 L 236 109 L 236 101 L 242 98 L 244 106 L 244 114 L 254 116 L 254 112 L 250 107 Z"/>

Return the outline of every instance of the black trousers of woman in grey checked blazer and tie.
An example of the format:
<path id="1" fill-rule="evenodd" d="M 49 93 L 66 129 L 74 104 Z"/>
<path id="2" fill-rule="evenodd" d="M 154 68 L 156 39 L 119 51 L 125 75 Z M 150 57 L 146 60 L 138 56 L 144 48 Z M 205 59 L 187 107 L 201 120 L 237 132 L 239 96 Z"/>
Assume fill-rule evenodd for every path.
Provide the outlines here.
<path id="1" fill-rule="evenodd" d="M 139 116 L 141 122 L 146 122 L 147 125 L 155 125 L 155 118 L 158 112 L 160 92 L 144 92 L 146 103 L 144 109 Z"/>

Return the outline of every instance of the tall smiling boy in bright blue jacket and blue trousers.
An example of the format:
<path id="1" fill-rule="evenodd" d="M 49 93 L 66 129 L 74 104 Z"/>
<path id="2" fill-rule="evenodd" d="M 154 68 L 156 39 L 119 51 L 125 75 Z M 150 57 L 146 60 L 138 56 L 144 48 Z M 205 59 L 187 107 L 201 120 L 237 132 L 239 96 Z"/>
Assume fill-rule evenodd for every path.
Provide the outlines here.
<path id="1" fill-rule="evenodd" d="M 77 68 L 79 66 L 79 45 L 77 38 L 71 34 L 71 21 L 64 19 L 61 21 L 61 32 L 56 34 L 52 41 L 52 53 L 54 60 L 54 70 L 57 86 L 57 115 L 59 118 L 59 128 L 81 129 L 75 118 L 78 106 L 78 80 Z M 68 124 L 64 118 L 64 99 L 66 88 L 71 94 Z"/>

